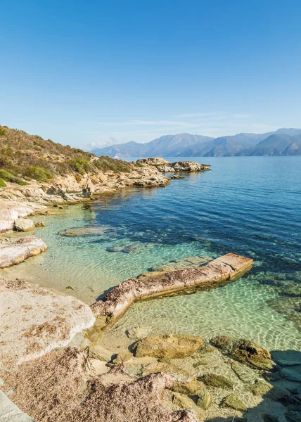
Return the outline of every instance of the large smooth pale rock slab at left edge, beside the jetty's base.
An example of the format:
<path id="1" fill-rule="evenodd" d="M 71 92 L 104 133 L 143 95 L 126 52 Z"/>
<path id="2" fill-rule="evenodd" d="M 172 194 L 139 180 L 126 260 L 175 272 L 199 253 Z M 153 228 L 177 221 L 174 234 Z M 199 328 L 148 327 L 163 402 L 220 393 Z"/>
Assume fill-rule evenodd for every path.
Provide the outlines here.
<path id="1" fill-rule="evenodd" d="M 68 345 L 95 321 L 88 305 L 23 281 L 0 280 L 0 309 L 0 362 L 8 366 Z"/>

